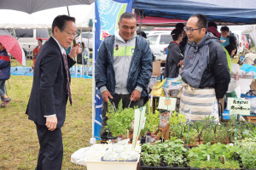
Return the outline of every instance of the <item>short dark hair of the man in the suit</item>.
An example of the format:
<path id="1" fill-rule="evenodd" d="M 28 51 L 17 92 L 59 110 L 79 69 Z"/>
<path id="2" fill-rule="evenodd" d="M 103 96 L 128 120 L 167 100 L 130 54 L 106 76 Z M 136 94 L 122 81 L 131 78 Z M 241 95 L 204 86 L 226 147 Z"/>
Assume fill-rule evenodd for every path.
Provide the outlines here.
<path id="1" fill-rule="evenodd" d="M 66 14 L 56 16 L 55 20 L 53 20 L 52 26 L 51 26 L 52 34 L 54 34 L 55 26 L 57 26 L 61 31 L 63 31 L 66 27 L 67 21 L 76 22 L 76 19 L 72 16 L 67 16 Z"/>

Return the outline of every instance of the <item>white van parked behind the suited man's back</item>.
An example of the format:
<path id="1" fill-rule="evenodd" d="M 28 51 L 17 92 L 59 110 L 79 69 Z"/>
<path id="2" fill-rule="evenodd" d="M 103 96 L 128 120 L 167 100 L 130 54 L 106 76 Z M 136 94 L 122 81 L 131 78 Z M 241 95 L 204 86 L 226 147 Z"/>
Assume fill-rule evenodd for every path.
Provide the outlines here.
<path id="1" fill-rule="evenodd" d="M 38 46 L 38 39 L 42 39 L 43 43 L 49 39 L 47 29 L 15 29 L 13 33 L 27 54 L 32 54 L 33 49 Z"/>

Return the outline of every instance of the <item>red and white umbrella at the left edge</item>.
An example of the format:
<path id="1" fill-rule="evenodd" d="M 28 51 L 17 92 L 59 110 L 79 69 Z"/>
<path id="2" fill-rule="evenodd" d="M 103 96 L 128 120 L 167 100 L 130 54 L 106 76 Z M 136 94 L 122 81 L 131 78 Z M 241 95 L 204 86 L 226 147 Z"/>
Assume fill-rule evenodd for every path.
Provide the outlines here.
<path id="1" fill-rule="evenodd" d="M 15 37 L 12 37 L 8 31 L 0 30 L 0 43 L 21 65 L 26 66 L 26 57 L 23 49 L 20 47 L 20 43 Z"/>

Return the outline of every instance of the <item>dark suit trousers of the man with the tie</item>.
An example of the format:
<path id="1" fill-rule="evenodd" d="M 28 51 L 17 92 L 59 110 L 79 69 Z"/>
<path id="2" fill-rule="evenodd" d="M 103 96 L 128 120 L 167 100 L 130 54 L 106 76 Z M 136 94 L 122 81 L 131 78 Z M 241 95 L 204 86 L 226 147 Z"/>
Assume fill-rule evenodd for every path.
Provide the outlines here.
<path id="1" fill-rule="evenodd" d="M 36 126 L 40 144 L 36 170 L 61 170 L 63 158 L 61 128 L 49 131 L 46 126 L 38 123 Z"/>

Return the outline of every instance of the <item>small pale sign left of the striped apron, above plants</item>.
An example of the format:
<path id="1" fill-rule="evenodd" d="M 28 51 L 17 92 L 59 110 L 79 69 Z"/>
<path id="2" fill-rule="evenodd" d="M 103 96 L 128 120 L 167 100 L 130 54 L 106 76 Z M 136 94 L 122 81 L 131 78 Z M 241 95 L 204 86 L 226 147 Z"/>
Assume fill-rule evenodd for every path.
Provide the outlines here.
<path id="1" fill-rule="evenodd" d="M 159 109 L 175 111 L 177 98 L 160 97 L 159 98 Z"/>

